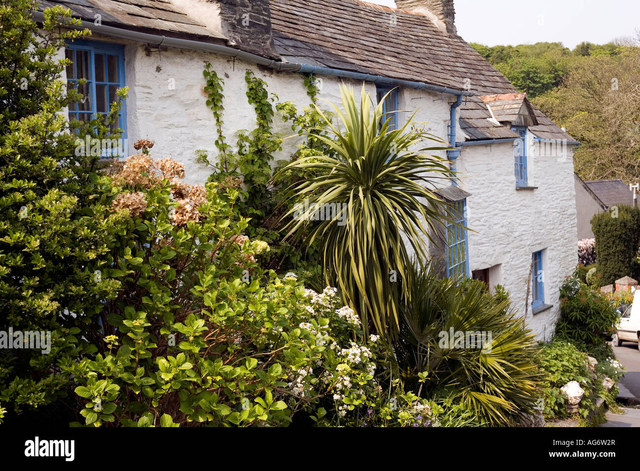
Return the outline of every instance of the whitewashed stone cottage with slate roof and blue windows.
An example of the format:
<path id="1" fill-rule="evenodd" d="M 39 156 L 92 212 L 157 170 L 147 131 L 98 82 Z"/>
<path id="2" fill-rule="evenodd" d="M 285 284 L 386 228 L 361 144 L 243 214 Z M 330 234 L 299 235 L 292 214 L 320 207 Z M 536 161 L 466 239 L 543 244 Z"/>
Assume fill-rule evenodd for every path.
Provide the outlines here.
<path id="1" fill-rule="evenodd" d="M 456 185 L 441 194 L 471 231 L 440 248 L 450 274 L 503 285 L 540 338 L 559 315 L 558 289 L 577 263 L 573 145 L 577 144 L 456 33 L 452 0 L 41 0 L 63 4 L 93 31 L 68 44 L 67 81 L 88 79 L 89 97 L 70 117 L 104 112 L 130 88 L 121 127 L 129 143 L 150 138 L 154 156 L 184 162 L 188 179 L 211 170 L 196 149 L 216 154 L 205 104 L 204 62 L 225 78 L 227 135 L 255 127 L 244 74 L 253 70 L 280 101 L 309 103 L 303 81 L 321 79 L 320 99 L 340 83 L 394 89 L 386 108 L 417 111 L 448 151 Z M 37 16 L 37 15 L 36 15 Z M 407 113 L 397 113 L 405 119 Z M 280 131 L 290 124 L 275 119 Z M 296 142 L 287 141 L 294 150 Z M 132 144 L 127 149 L 134 153 Z M 287 152 L 288 151 L 288 152 Z M 443 155 L 445 156 L 445 155 Z M 449 256 L 446 256 L 449 254 Z M 531 276 L 531 270 L 533 272 Z"/>

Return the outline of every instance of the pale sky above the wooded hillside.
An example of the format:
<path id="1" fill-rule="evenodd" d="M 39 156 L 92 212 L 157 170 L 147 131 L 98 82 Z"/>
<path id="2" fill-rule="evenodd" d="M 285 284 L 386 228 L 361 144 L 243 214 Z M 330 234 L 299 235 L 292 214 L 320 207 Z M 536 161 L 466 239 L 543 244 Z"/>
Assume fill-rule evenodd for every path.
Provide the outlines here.
<path id="1" fill-rule="evenodd" d="M 393 0 L 367 1 L 396 6 Z M 486 45 L 562 42 L 573 49 L 640 28 L 639 0 L 454 0 L 454 6 L 458 34 Z"/>

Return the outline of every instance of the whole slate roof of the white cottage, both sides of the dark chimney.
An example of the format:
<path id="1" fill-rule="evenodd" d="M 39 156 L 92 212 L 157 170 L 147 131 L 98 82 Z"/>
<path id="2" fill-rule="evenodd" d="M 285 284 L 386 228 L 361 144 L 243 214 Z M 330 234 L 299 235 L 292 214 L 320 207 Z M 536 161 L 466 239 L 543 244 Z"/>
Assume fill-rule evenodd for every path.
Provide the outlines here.
<path id="1" fill-rule="evenodd" d="M 210 24 L 212 20 L 207 21 L 207 15 L 188 7 L 207 4 L 204 1 L 41 0 L 40 3 L 40 8 L 62 4 L 86 21 L 93 22 L 95 14 L 100 14 L 106 26 L 170 37 L 194 37 L 205 42 L 228 39 Z M 275 48 L 282 60 L 470 90 L 476 96 L 465 97 L 460 106 L 460 126 L 467 138 L 517 137 L 493 119 L 481 96 L 518 94 L 518 90 L 461 37 L 447 35 L 424 13 L 360 0 L 269 0 L 268 10 Z M 243 47 L 237 45 L 239 49 Z M 264 55 L 273 56 L 269 51 Z M 529 128 L 534 135 L 573 141 L 572 136 L 528 100 L 523 102 L 527 113 L 537 120 L 536 126 Z"/>

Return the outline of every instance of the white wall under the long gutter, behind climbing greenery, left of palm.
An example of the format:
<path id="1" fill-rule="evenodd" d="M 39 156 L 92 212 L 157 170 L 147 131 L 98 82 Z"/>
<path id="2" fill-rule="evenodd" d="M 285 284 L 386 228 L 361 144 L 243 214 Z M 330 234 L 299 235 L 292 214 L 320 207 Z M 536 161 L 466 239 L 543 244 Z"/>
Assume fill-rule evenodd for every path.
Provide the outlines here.
<path id="1" fill-rule="evenodd" d="M 240 60 L 234 62 L 218 54 L 186 50 L 170 49 L 163 51 L 159 57 L 157 53 L 147 56 L 143 47 L 131 47 L 127 49 L 127 58 L 127 85 L 131 87 L 127 103 L 129 141 L 134 142 L 138 138 L 153 140 L 154 156 L 170 155 L 182 161 L 185 164 L 186 180 L 192 183 L 206 181 L 212 172 L 211 167 L 196 162 L 195 151 L 204 149 L 212 161 L 215 161 L 218 153 L 214 145 L 217 136 L 215 120 L 211 109 L 205 104 L 203 90 L 205 80 L 202 70 L 205 60 L 212 63 L 212 68 L 225 81 L 223 131 L 228 144 L 236 144 L 237 131 L 252 131 L 257 127 L 253 105 L 248 103 L 246 96 L 247 84 L 244 76 L 247 69 L 264 79 L 268 84 L 269 94 L 278 95 L 281 103 L 294 101 L 300 111 L 303 106 L 310 104 L 301 74 L 275 72 Z M 174 81 L 175 90 L 172 90 L 169 84 L 173 85 Z M 323 78 L 319 99 L 339 103 L 340 83 L 335 78 Z M 362 87 L 362 83 L 355 81 L 346 80 L 346 83 L 353 85 L 356 92 Z M 372 84 L 367 84 L 366 87 L 370 92 L 375 90 Z M 329 108 L 323 102 L 320 106 Z M 273 129 L 284 136 L 295 134 L 291 129 L 291 122 L 285 122 L 278 112 L 273 119 Z M 275 156 L 273 164 L 279 159 L 289 158 L 300 142 L 297 137 L 285 140 L 283 149 Z"/>

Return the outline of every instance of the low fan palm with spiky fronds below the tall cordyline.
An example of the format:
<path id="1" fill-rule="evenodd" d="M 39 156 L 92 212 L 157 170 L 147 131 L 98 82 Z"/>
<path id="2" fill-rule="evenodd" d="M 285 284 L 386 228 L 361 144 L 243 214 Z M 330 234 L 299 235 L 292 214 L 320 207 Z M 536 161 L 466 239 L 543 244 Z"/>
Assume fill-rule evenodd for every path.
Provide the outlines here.
<path id="1" fill-rule="evenodd" d="M 426 372 L 423 395 L 453 395 L 495 426 L 533 413 L 542 381 L 539 347 L 509 299 L 492 295 L 478 280 L 441 279 L 431 267 L 413 265 L 407 273 L 412 299 L 402 303 L 394 345 L 394 370 L 406 387 L 417 389 Z M 451 332 L 464 333 L 465 342 L 467 333 L 486 333 L 486 342 L 481 348 L 452 345 Z"/>

